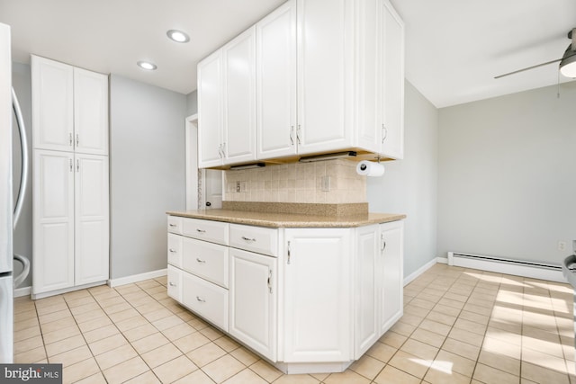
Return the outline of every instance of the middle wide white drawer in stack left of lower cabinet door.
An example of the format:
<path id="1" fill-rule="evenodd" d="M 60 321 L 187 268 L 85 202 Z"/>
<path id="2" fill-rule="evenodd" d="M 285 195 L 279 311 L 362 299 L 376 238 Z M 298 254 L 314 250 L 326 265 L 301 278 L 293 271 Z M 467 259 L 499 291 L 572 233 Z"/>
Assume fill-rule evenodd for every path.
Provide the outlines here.
<path id="1" fill-rule="evenodd" d="M 184 237 L 182 267 L 222 287 L 228 287 L 228 247 Z"/>

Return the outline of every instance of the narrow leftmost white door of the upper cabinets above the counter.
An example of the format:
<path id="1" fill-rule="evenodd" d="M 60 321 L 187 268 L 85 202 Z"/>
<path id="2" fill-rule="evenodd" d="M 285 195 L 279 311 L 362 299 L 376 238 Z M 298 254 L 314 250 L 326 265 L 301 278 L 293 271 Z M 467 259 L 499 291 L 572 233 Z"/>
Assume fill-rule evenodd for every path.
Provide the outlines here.
<path id="1" fill-rule="evenodd" d="M 198 64 L 198 167 L 222 165 L 221 50 Z"/>

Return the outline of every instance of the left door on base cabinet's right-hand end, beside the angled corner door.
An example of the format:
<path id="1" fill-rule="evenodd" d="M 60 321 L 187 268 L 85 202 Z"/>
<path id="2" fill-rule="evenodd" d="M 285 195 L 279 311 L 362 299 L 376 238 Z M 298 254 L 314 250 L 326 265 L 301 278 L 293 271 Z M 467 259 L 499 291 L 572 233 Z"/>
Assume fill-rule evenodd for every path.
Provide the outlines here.
<path id="1" fill-rule="evenodd" d="M 378 287 L 382 284 L 379 225 L 356 229 L 355 358 L 380 337 Z"/>

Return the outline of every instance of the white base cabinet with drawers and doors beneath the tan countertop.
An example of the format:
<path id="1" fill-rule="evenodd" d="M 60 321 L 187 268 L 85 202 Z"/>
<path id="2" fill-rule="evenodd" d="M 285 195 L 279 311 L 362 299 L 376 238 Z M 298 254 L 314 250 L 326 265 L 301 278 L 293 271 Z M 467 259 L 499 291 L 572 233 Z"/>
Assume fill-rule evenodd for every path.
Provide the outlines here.
<path id="1" fill-rule="evenodd" d="M 402 215 L 291 228 L 169 213 L 168 295 L 281 371 L 344 371 L 402 316 Z"/>

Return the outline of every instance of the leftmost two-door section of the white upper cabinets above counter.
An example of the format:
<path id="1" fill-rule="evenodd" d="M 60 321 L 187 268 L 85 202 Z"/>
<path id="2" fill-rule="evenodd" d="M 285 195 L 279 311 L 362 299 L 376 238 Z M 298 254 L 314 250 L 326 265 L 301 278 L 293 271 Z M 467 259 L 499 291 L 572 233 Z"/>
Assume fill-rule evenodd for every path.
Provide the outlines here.
<path id="1" fill-rule="evenodd" d="M 256 160 L 255 27 L 198 64 L 199 166 Z"/>

